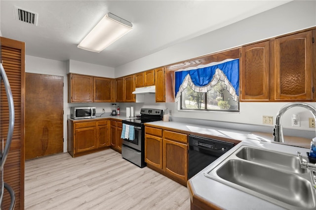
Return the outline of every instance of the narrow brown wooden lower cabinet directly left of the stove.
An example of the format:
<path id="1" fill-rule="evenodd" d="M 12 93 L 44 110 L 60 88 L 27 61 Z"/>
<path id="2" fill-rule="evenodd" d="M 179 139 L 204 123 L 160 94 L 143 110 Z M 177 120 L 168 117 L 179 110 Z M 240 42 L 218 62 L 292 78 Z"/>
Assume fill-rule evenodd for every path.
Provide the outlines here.
<path id="1" fill-rule="evenodd" d="M 122 139 L 120 135 L 122 133 L 122 121 L 111 120 L 111 148 L 121 153 L 122 151 Z"/>

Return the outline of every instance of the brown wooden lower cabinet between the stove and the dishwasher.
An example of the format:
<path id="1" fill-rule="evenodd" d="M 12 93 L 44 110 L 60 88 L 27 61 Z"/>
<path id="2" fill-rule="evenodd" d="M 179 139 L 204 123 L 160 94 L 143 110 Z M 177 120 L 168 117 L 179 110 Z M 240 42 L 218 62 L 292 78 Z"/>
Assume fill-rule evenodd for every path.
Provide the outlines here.
<path id="1" fill-rule="evenodd" d="M 186 186 L 188 135 L 146 126 L 145 162 L 149 168 Z"/>

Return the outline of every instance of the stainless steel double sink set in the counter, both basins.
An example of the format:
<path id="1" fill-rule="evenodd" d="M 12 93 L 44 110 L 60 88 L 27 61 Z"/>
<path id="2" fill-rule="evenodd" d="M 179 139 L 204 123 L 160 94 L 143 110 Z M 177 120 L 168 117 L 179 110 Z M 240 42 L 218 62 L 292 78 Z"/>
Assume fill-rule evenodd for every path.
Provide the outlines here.
<path id="1" fill-rule="evenodd" d="M 295 155 L 242 145 L 204 175 L 285 209 L 316 209 L 312 175 Z"/>

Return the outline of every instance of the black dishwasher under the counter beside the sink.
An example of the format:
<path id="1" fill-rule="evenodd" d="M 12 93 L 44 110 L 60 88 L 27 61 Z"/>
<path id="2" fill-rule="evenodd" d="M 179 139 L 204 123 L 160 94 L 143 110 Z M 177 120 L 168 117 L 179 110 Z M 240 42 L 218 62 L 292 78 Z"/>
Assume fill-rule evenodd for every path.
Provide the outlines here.
<path id="1" fill-rule="evenodd" d="M 188 178 L 196 175 L 233 146 L 232 142 L 190 135 Z"/>

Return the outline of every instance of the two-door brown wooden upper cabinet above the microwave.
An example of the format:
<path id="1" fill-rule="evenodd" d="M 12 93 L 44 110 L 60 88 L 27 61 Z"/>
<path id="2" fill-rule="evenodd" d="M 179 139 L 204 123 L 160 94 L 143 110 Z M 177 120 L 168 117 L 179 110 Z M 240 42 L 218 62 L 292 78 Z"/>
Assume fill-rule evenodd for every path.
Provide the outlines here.
<path id="1" fill-rule="evenodd" d="M 113 78 L 68 74 L 68 103 L 114 102 Z"/>

